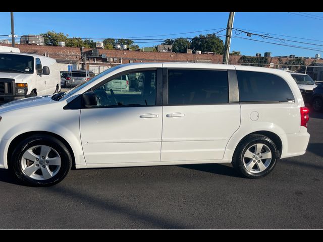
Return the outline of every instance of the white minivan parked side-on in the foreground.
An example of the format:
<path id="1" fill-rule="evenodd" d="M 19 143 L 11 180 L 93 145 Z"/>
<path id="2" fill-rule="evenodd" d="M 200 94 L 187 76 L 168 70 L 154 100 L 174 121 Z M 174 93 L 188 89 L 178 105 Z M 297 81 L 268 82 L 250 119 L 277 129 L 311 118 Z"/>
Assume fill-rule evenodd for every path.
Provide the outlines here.
<path id="1" fill-rule="evenodd" d="M 114 90 L 119 79 L 131 80 L 129 90 Z M 68 92 L 0 106 L 0 167 L 34 186 L 58 183 L 72 166 L 232 163 L 258 178 L 305 153 L 308 119 L 284 71 L 120 65 Z"/>

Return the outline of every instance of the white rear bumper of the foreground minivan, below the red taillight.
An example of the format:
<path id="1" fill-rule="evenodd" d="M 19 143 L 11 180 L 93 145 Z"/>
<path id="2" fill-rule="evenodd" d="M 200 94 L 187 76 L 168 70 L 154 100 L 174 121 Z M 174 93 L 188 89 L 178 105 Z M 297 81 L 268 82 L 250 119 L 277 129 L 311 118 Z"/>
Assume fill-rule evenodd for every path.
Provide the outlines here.
<path id="1" fill-rule="evenodd" d="M 303 155 L 306 152 L 310 135 L 305 127 L 301 127 L 301 132 L 297 134 L 287 134 L 287 149 L 284 149 L 281 158 L 288 158 Z"/>

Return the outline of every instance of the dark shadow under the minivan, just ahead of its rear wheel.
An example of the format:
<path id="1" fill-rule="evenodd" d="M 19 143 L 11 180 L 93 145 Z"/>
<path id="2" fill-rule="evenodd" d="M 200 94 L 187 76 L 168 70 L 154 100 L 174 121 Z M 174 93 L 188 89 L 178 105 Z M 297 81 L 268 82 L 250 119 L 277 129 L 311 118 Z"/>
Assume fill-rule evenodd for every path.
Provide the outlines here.
<path id="1" fill-rule="evenodd" d="M 183 168 L 213 173 L 213 174 L 241 178 L 241 176 L 237 173 L 237 171 L 233 167 L 229 167 L 223 164 L 192 164 L 192 165 L 178 165 L 178 166 Z"/>

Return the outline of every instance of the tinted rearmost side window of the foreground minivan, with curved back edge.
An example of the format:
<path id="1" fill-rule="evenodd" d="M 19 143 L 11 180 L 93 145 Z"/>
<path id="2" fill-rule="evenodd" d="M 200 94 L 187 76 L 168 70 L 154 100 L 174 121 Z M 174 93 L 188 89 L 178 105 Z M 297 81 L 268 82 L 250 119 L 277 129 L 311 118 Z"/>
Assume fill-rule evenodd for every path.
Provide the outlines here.
<path id="1" fill-rule="evenodd" d="M 237 71 L 240 102 L 294 100 L 284 79 L 270 73 Z"/>

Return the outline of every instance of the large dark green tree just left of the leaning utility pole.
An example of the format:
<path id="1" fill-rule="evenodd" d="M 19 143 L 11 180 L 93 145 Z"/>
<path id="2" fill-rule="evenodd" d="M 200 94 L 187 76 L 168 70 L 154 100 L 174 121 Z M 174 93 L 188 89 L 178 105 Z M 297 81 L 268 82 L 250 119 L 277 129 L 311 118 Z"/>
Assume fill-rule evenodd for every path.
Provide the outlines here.
<path id="1" fill-rule="evenodd" d="M 199 35 L 191 40 L 191 49 L 201 51 L 212 51 L 217 54 L 223 54 L 224 43 L 223 40 L 215 34 Z"/>

